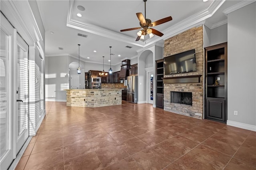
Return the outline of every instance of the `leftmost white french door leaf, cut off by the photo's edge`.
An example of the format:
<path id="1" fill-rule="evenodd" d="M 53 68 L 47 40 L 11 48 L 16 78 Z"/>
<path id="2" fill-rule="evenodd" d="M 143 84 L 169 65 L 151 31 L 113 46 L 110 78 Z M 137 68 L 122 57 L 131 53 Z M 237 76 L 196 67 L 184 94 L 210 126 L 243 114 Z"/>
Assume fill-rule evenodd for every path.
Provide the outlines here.
<path id="1" fill-rule="evenodd" d="M 14 158 L 14 121 L 12 118 L 12 49 L 14 28 L 1 15 L 0 49 L 0 169 L 7 169 Z M 16 93 L 15 93 L 16 94 Z"/>

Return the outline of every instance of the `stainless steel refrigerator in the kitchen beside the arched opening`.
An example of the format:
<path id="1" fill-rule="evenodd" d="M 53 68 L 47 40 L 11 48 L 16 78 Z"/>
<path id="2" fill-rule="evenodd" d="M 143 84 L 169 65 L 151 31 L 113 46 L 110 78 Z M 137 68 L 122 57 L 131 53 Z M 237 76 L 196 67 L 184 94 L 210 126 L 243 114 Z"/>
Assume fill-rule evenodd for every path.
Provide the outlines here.
<path id="1" fill-rule="evenodd" d="M 138 101 L 138 76 L 127 77 L 127 101 L 131 103 Z"/>

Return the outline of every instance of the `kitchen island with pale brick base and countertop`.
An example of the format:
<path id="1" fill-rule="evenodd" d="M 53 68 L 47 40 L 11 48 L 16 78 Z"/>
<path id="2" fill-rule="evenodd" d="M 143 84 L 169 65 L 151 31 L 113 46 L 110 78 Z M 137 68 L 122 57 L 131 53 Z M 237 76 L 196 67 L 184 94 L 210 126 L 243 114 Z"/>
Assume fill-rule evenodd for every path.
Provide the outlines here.
<path id="1" fill-rule="evenodd" d="M 67 106 L 102 107 L 122 104 L 122 89 L 65 89 Z"/>

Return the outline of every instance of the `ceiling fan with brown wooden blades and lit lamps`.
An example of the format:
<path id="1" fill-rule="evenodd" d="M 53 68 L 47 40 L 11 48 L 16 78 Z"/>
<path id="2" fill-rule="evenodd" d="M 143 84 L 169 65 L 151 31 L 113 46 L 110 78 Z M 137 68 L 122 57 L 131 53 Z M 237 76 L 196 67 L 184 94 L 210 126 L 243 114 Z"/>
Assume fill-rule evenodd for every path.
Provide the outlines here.
<path id="1" fill-rule="evenodd" d="M 136 15 L 140 21 L 140 27 L 128 28 L 128 29 L 120 30 L 120 32 L 138 30 L 138 29 L 142 28 L 142 30 L 140 30 L 137 33 L 138 37 L 136 38 L 136 41 L 138 41 L 140 39 L 144 39 L 144 36 L 146 36 L 147 34 L 149 34 L 150 38 L 152 38 L 154 36 L 154 34 L 162 37 L 164 35 L 162 32 L 159 32 L 158 30 L 155 30 L 154 28 L 149 28 L 149 27 L 157 26 L 160 24 L 164 24 L 165 22 L 171 21 L 172 17 L 168 16 L 166 18 L 162 18 L 161 20 L 157 20 L 155 22 L 151 22 L 150 19 L 145 19 L 146 18 L 146 2 L 147 2 L 147 0 L 143 0 L 143 2 L 145 2 L 145 17 L 143 16 L 142 13 L 136 13 Z"/>

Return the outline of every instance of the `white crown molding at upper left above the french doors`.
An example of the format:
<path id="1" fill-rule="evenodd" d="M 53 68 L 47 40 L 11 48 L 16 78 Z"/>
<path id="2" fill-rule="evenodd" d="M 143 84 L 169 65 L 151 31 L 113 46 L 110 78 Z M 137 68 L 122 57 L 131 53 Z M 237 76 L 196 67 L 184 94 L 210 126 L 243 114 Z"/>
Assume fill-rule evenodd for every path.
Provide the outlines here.
<path id="1" fill-rule="evenodd" d="M 1 11 L 28 45 L 43 40 L 28 0 L 1 1 Z"/>

